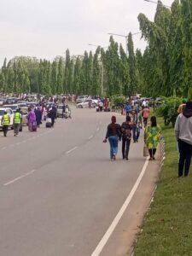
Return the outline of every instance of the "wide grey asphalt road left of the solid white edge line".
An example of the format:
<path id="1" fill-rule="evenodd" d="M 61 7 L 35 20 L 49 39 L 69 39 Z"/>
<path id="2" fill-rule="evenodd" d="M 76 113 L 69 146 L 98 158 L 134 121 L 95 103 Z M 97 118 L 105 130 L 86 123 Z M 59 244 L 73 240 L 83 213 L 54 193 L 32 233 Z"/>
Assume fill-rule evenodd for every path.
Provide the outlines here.
<path id="1" fill-rule="evenodd" d="M 110 117 L 73 109 L 54 129 L 0 135 L 0 255 L 93 253 L 144 164 L 142 143 L 130 162 L 109 161 Z"/>

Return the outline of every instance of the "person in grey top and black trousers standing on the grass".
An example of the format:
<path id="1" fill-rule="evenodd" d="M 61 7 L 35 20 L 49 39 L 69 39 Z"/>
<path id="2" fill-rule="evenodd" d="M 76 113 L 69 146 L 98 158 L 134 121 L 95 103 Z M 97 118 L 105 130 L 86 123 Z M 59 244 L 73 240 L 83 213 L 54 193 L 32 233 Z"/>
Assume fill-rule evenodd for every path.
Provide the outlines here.
<path id="1" fill-rule="evenodd" d="M 183 113 L 177 116 L 175 134 L 179 149 L 178 177 L 189 175 L 192 156 L 192 102 L 187 102 Z"/>

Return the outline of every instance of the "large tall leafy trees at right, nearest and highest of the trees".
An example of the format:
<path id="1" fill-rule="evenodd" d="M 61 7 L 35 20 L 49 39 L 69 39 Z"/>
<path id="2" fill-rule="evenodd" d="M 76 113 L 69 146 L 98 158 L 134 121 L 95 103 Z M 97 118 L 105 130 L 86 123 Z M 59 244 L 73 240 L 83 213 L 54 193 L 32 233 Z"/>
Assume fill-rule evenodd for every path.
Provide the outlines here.
<path id="1" fill-rule="evenodd" d="M 187 96 L 192 85 L 192 1 L 175 0 L 172 8 L 160 1 L 154 21 L 138 16 L 148 47 L 137 52 L 139 82 L 148 96 Z"/>

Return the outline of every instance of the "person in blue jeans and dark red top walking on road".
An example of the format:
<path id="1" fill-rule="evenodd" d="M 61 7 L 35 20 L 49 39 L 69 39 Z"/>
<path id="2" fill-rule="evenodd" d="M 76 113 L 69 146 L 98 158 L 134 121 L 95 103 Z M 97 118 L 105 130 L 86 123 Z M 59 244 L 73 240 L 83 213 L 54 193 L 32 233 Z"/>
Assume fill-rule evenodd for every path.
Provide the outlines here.
<path id="1" fill-rule="evenodd" d="M 112 116 L 111 118 L 111 124 L 108 125 L 108 131 L 106 134 L 105 139 L 103 140 L 103 143 L 110 144 L 110 159 L 116 160 L 116 155 L 118 153 L 118 143 L 121 139 L 121 127 L 119 124 L 116 124 L 116 117 Z"/>

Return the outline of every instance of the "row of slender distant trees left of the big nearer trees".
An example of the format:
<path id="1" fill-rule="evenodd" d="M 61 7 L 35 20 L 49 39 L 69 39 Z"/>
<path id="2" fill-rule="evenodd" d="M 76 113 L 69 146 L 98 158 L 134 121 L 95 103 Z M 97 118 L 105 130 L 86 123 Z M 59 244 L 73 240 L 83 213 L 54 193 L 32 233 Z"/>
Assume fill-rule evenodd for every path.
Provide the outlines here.
<path id="1" fill-rule="evenodd" d="M 97 47 L 95 54 L 58 56 L 54 61 L 31 57 L 5 59 L 0 71 L 0 91 L 35 92 L 44 95 L 87 94 L 131 95 L 137 90 L 135 54 L 131 33 L 129 56 L 122 45 L 110 38 L 107 50 Z"/>

